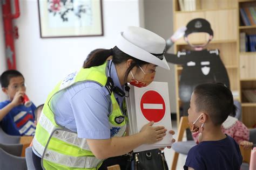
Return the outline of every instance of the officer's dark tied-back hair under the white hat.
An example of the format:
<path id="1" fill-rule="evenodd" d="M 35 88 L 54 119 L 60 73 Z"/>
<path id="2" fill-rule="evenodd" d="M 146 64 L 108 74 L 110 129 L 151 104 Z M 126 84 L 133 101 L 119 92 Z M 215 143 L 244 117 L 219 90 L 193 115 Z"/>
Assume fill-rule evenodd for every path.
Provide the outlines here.
<path id="1" fill-rule="evenodd" d="M 115 46 L 114 48 L 111 48 L 111 49 L 104 49 L 104 50 L 95 49 L 94 51 L 95 52 L 92 51 L 89 54 L 90 57 L 84 63 L 83 68 L 90 68 L 93 66 L 103 65 L 103 63 L 106 61 L 106 59 L 109 58 L 109 56 L 111 56 L 111 55 L 113 56 L 112 61 L 115 65 L 123 63 L 129 59 L 132 59 L 133 62 L 131 63 L 130 67 L 125 72 L 125 76 L 124 76 L 125 81 L 127 80 L 127 76 L 133 67 L 146 65 L 148 63 L 148 62 L 136 59 L 133 56 L 122 52 L 117 46 Z"/>

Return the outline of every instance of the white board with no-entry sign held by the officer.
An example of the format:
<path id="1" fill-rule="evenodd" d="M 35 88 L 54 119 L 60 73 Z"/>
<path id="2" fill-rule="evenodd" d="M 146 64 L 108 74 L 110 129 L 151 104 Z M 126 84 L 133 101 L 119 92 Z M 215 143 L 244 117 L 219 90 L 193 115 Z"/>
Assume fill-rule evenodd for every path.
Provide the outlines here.
<path id="1" fill-rule="evenodd" d="M 139 133 L 143 126 L 154 121 L 153 126 L 165 126 L 166 136 L 154 144 L 144 144 L 133 150 L 140 152 L 171 146 L 172 129 L 171 110 L 168 84 L 166 82 L 152 82 L 147 87 L 130 86 L 129 97 L 126 97 L 127 114 L 129 117 L 129 134 Z"/>

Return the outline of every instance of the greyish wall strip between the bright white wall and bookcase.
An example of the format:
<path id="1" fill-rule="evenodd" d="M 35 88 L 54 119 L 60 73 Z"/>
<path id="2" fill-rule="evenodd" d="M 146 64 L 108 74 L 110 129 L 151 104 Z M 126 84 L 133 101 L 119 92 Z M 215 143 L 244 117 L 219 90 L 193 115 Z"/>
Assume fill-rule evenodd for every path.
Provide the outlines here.
<path id="1" fill-rule="evenodd" d="M 144 1 L 145 28 L 157 33 L 164 39 L 173 34 L 172 0 Z M 170 49 L 173 53 L 173 48 Z M 174 65 L 169 63 L 170 70 L 157 68 L 156 81 L 168 82 L 171 112 L 176 112 Z"/>

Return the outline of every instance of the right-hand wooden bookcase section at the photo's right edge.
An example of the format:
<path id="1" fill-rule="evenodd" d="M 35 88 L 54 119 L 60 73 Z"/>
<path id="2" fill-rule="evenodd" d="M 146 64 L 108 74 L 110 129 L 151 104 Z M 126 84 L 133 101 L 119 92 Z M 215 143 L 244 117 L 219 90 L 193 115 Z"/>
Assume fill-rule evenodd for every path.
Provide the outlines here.
<path id="1" fill-rule="evenodd" d="M 256 1 L 238 0 L 238 36 L 241 32 L 246 34 L 256 34 L 256 26 L 244 26 L 239 14 L 240 8 L 256 7 Z M 256 52 L 240 52 L 240 39 L 238 38 L 237 52 L 239 55 L 239 81 L 240 81 L 240 101 L 242 103 L 242 122 L 252 128 L 256 124 L 256 103 L 250 103 L 242 94 L 242 90 L 256 89 Z"/>

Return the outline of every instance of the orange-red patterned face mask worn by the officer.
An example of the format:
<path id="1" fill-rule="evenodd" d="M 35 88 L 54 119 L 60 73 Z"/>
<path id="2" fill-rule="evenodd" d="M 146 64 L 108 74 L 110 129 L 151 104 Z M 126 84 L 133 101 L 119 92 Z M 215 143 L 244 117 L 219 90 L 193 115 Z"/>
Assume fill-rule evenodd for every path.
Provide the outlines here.
<path id="1" fill-rule="evenodd" d="M 142 80 L 136 80 L 131 71 L 132 80 L 130 81 L 130 84 L 136 87 L 146 87 L 154 80 L 154 75 L 156 74 L 156 71 L 153 71 L 152 73 L 145 73 L 142 67 L 139 66 L 139 68 L 144 73 L 144 77 L 142 78 Z"/>

